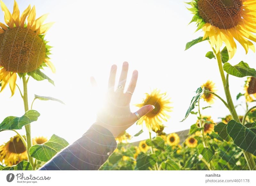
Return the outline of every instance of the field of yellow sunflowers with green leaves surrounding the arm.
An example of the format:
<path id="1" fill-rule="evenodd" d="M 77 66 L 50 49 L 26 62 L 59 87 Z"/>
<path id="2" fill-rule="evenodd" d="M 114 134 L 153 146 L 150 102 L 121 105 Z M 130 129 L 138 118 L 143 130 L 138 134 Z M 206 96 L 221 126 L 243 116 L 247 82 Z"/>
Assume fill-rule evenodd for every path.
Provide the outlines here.
<path id="1" fill-rule="evenodd" d="M 196 115 L 189 131 L 165 133 L 171 120 L 172 102 L 169 93 L 153 89 L 146 93 L 137 107 L 154 105 L 155 108 L 137 121 L 141 130 L 134 136 L 126 131 L 116 137 L 118 146 L 100 170 L 256 170 L 256 70 L 244 61 L 232 66 L 229 62 L 242 45 L 246 54 L 255 52 L 256 42 L 256 1 L 255 0 L 193 0 L 186 4 L 193 17 L 190 23 L 196 23 L 196 31 L 202 36 L 188 42 L 185 50 L 193 50 L 196 44 L 210 46 L 211 51 L 205 57 L 216 61 L 225 97 L 216 93 L 215 83 L 202 78 L 202 85 L 195 87 L 195 95 L 184 108 L 184 118 Z M 212 8 L 209 8 L 212 7 Z M 68 146 L 68 142 L 56 135 L 50 139 L 44 136 L 32 138 L 30 124 L 36 122 L 40 113 L 33 109 L 36 100 L 52 100 L 63 104 L 53 97 L 35 95 L 28 100 L 28 80 L 53 80 L 43 73 L 55 67 L 50 61 L 51 46 L 44 36 L 53 23 L 43 24 L 47 14 L 36 19 L 36 8 L 29 5 L 20 15 L 14 0 L 11 13 L 1 1 L 5 23 L 0 23 L 0 41 L 4 43 L 0 57 L 1 92 L 9 84 L 13 96 L 20 94 L 24 103 L 24 115 L 8 116 L 0 123 L 0 132 L 12 130 L 15 136 L 0 144 L 0 170 L 36 170 L 55 154 Z M 230 17 L 232 21 L 230 21 Z M 189 21 L 188 21 L 189 22 Z M 186 23 L 184 23 L 186 24 Z M 21 38 L 21 39 L 20 39 Z M 15 47 L 13 47 L 15 46 Z M 17 61 L 19 62 L 17 65 Z M 244 78 L 244 89 L 237 85 L 238 92 L 230 92 L 229 76 Z M 22 80 L 22 87 L 16 84 Z M 171 94 L 171 93 L 170 93 Z M 231 94 L 243 100 L 245 112 L 237 114 Z M 230 114 L 219 116 L 214 121 L 204 110 L 219 101 L 223 109 Z M 202 107 L 202 103 L 207 106 Z M 26 130 L 20 135 L 19 130 Z M 130 142 L 142 133 L 148 133 L 148 139 Z"/>

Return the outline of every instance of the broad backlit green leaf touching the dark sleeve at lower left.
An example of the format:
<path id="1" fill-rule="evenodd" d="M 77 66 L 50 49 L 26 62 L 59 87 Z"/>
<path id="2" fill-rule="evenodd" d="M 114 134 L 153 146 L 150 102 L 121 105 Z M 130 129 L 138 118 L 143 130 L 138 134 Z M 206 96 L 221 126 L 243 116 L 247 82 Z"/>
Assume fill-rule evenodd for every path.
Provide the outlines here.
<path id="1" fill-rule="evenodd" d="M 68 146 L 68 142 L 55 134 L 52 135 L 49 141 L 43 144 L 36 144 L 30 147 L 29 154 L 39 161 L 49 161 L 60 150 Z"/>

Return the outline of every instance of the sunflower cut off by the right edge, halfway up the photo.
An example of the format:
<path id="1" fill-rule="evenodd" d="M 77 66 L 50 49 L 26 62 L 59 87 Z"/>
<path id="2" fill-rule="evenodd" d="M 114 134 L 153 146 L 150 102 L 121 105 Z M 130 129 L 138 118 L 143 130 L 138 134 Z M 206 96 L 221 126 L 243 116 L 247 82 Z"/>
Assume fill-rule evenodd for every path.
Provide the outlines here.
<path id="1" fill-rule="evenodd" d="M 256 99 L 256 78 L 248 77 L 244 85 L 244 96 L 247 102 L 252 102 Z"/>

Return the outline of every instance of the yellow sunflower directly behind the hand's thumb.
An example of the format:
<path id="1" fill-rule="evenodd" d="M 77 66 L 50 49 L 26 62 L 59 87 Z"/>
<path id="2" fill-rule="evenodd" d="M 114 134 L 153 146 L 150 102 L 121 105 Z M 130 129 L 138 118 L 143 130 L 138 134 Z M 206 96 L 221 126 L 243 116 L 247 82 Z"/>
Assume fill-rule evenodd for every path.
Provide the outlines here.
<path id="1" fill-rule="evenodd" d="M 167 119 L 170 118 L 170 116 L 166 114 L 166 112 L 172 111 L 170 103 L 170 99 L 167 98 L 166 93 L 160 93 L 160 90 L 154 89 L 150 94 L 146 93 L 146 98 L 141 104 L 136 104 L 136 106 L 154 105 L 155 108 L 142 116 L 140 120 L 138 120 L 138 124 L 142 125 L 143 122 L 145 122 L 149 131 L 153 129 L 155 132 L 160 130 L 160 126 L 163 126 L 163 120 L 167 121 Z"/>

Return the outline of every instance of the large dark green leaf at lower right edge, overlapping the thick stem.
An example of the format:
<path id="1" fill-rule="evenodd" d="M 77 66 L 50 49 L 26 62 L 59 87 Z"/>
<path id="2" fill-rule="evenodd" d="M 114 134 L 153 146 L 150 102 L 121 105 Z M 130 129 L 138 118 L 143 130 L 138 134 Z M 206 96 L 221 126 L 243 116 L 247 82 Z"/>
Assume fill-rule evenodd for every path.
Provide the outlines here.
<path id="1" fill-rule="evenodd" d="M 227 132 L 238 147 L 256 156 L 256 133 L 250 128 L 246 128 L 235 120 L 230 120 Z"/>

